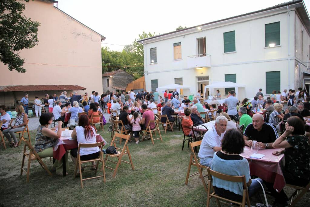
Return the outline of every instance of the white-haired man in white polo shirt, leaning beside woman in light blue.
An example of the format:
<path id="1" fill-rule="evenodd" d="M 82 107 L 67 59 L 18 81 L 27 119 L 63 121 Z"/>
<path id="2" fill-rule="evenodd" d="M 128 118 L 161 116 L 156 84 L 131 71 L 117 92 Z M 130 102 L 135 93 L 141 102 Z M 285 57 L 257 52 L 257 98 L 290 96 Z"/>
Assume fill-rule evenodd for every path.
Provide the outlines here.
<path id="1" fill-rule="evenodd" d="M 226 117 L 218 116 L 215 120 L 215 126 L 203 136 L 198 153 L 201 165 L 211 166 L 214 152 L 222 150 L 222 139 L 225 134 L 227 122 Z"/>

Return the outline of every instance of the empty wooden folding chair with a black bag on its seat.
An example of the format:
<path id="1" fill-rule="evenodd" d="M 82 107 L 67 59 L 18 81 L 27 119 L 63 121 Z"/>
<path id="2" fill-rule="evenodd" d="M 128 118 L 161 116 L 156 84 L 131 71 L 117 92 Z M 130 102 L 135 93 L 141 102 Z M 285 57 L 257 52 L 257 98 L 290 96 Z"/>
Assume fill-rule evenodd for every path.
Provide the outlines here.
<path id="1" fill-rule="evenodd" d="M 118 148 L 118 147 L 116 146 L 115 141 L 118 140 L 118 139 L 116 139 L 116 138 L 119 138 L 119 140 L 122 140 L 122 139 L 126 140 L 126 141 L 125 141 L 125 144 L 124 144 L 124 146 L 123 146 L 123 148 Z M 111 145 L 110 145 L 110 146 L 114 146 L 114 147 L 116 148 L 117 154 L 107 154 L 106 157 L 105 157 L 105 159 L 104 159 L 104 163 L 106 163 L 106 161 L 110 161 L 110 162 L 112 162 L 112 163 L 116 163 L 116 168 L 115 168 L 115 169 L 110 168 L 110 167 L 108 167 L 108 166 L 105 165 L 105 167 L 107 167 L 107 168 L 109 168 L 109 169 L 111 169 L 111 170 L 114 170 L 113 177 L 115 177 L 116 172 L 117 172 L 117 169 L 118 169 L 119 165 L 121 164 L 121 161 L 124 162 L 124 163 L 131 164 L 132 170 L 135 169 L 135 168 L 134 168 L 134 165 L 133 165 L 133 163 L 132 163 L 132 160 L 131 160 L 131 156 L 130 156 L 130 152 L 129 152 L 128 146 L 127 146 L 127 143 L 128 143 L 129 138 L 130 138 L 130 135 L 124 135 L 124 134 L 118 134 L 118 133 L 115 133 L 114 136 L 113 136 L 113 139 L 112 139 L 112 142 L 111 142 Z M 121 141 L 120 141 L 120 142 L 121 142 Z M 119 150 L 121 150 L 121 151 L 119 151 Z M 128 154 L 128 158 L 129 158 L 129 161 L 130 161 L 130 162 L 127 162 L 127 161 L 125 161 L 125 160 L 122 160 L 122 157 L 123 157 L 123 155 L 125 155 L 125 154 Z M 109 160 L 108 157 L 111 157 L 111 158 L 117 157 L 118 162 L 114 162 L 114 161 L 112 161 L 112 160 Z"/>

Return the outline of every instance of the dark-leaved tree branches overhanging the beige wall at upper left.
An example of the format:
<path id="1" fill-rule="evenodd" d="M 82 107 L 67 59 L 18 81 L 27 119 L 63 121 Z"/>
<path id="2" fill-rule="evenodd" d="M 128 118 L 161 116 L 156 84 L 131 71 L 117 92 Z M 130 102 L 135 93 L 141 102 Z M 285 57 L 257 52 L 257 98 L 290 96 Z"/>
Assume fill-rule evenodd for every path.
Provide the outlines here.
<path id="1" fill-rule="evenodd" d="M 29 0 L 24 0 L 29 2 Z M 0 61 L 8 65 L 10 71 L 15 69 L 24 73 L 24 59 L 19 51 L 33 48 L 38 44 L 39 22 L 22 16 L 25 4 L 15 0 L 0 1 Z"/>

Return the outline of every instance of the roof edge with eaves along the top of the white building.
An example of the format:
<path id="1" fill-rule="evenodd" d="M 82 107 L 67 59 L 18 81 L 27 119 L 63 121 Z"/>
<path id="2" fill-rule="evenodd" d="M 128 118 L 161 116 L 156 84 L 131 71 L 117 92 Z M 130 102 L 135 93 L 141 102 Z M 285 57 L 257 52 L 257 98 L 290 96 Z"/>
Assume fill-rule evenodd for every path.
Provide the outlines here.
<path id="1" fill-rule="evenodd" d="M 191 30 L 191 29 L 194 29 L 194 28 L 197 28 L 197 27 L 214 24 L 214 23 L 218 23 L 218 22 L 221 22 L 221 21 L 231 20 L 231 19 L 242 17 L 242 16 L 248 16 L 248 15 L 251 15 L 251 14 L 256 14 L 256 13 L 259 13 L 259 12 L 268 11 L 268 10 L 272 10 L 272 9 L 277 9 L 277 8 L 280 8 L 280 7 L 285 7 L 285 6 L 289 6 L 291 4 L 302 3 L 302 2 L 303 2 L 303 0 L 292 0 L 292 1 L 289 1 L 289 2 L 284 2 L 284 3 L 281 3 L 281 4 L 277 4 L 277 5 L 273 6 L 273 7 L 268 7 L 268 8 L 265 8 L 265 9 L 258 10 L 258 11 L 252 11 L 252 12 L 249 12 L 249 13 L 245 13 L 245 14 L 241 14 L 241 15 L 237 15 L 237 16 L 232 16 L 232 17 L 221 19 L 221 20 L 217 20 L 217 21 L 211 21 L 211 22 L 208 22 L 208 23 L 205 23 L 205 24 L 202 24 L 202 25 L 196 25 L 196 26 L 193 26 L 193 27 L 188 27 L 186 29 L 176 30 L 176 31 L 173 31 L 173 32 L 159 34 L 159 35 L 156 35 L 156 36 L 153 36 L 153 37 L 148 37 L 148 38 L 145 38 L 145 39 L 140 39 L 138 41 L 138 43 L 141 43 L 141 42 L 143 42 L 145 40 L 149 40 L 149 39 L 153 39 L 153 38 L 157 38 L 157 37 L 162 37 L 162 36 L 165 36 L 165 35 L 168 35 L 168 34 L 173 34 L 173 33 L 181 32 L 181 31 Z"/>

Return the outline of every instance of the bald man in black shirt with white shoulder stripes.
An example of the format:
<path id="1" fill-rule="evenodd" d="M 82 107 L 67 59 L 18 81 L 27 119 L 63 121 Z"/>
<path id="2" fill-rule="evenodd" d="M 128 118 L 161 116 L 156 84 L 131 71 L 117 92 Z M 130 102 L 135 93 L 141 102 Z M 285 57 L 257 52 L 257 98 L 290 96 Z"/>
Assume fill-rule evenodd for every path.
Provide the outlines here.
<path id="1" fill-rule="evenodd" d="M 264 122 L 263 115 L 256 113 L 252 117 L 243 134 L 245 144 L 252 146 L 253 140 L 257 141 L 260 148 L 273 148 L 273 142 L 279 137 L 276 129 L 269 123 Z"/>

